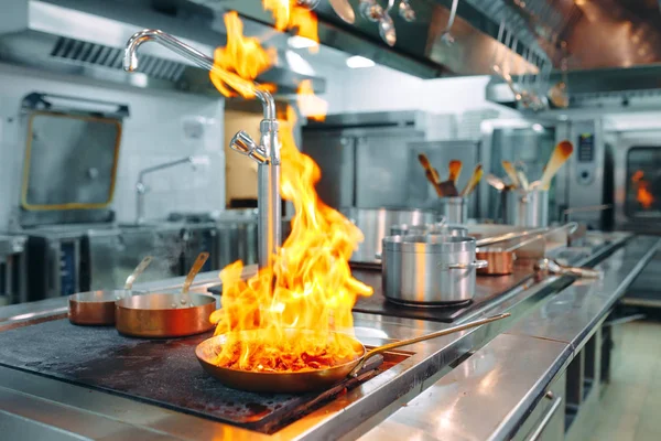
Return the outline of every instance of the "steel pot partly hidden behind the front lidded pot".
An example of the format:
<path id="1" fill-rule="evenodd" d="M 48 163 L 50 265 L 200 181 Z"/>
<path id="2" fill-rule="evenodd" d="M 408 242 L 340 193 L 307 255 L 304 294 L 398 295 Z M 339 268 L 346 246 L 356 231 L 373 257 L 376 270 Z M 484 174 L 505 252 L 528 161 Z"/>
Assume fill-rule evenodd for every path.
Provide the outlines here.
<path id="1" fill-rule="evenodd" d="M 351 256 L 353 262 L 379 263 L 381 240 L 390 234 L 392 225 L 424 225 L 440 220 L 434 211 L 393 208 L 343 208 L 345 214 L 365 235 L 365 240 Z"/>

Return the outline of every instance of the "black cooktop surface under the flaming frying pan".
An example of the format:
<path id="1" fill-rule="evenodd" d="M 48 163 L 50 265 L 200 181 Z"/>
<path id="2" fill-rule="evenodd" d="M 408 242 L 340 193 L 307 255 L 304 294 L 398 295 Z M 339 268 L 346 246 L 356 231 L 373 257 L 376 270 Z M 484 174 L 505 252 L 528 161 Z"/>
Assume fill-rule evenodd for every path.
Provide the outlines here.
<path id="1" fill-rule="evenodd" d="M 113 327 L 55 320 L 0 332 L 0 365 L 263 433 L 392 366 L 384 363 L 323 394 L 253 394 L 223 386 L 202 369 L 195 346 L 209 336 L 139 340 L 121 336 Z"/>

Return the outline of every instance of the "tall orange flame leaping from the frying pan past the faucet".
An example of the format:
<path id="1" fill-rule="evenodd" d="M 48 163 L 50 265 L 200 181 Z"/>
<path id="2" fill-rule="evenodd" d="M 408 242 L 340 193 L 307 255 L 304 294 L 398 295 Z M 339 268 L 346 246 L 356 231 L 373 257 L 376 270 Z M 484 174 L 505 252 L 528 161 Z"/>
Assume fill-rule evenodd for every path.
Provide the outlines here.
<path id="1" fill-rule="evenodd" d="M 246 68 L 245 64 L 270 58 L 264 56 L 268 51 L 253 44 L 259 42 L 246 43 L 235 19 L 240 24 L 238 15 L 226 17 L 228 29 L 232 24 L 237 32 L 228 34 L 228 47 L 216 51 L 216 64 L 235 76 L 247 74 L 252 85 L 256 73 L 268 67 Z M 212 79 L 226 96 L 231 94 L 228 87 L 245 86 L 234 83 L 234 77 L 230 82 L 226 76 L 212 75 Z M 302 84 L 301 89 L 303 101 L 318 104 L 311 84 Z M 315 108 L 315 114 L 322 117 L 319 109 Z M 273 256 L 272 266 L 260 269 L 250 279 L 241 279 L 241 261 L 220 271 L 223 308 L 210 316 L 217 323 L 216 334 L 226 334 L 215 362 L 218 366 L 297 372 L 328 367 L 360 355 L 347 334 L 353 334 L 351 308 L 357 295 L 372 293 L 370 287 L 351 277 L 349 268 L 349 258 L 362 240 L 362 233 L 318 198 L 314 186 L 321 170 L 296 148 L 295 120 L 294 110 L 288 107 L 280 129 L 281 193 L 295 208 L 292 232 Z M 245 332 L 252 330 L 258 332 Z"/>

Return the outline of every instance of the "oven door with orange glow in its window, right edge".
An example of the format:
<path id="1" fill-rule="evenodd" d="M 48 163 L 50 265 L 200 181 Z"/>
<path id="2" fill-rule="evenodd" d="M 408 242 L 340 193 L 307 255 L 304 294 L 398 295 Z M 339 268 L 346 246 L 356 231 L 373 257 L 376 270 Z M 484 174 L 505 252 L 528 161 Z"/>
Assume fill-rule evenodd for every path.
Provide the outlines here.
<path id="1" fill-rule="evenodd" d="M 661 234 L 661 131 L 620 137 L 615 204 L 618 228 Z"/>

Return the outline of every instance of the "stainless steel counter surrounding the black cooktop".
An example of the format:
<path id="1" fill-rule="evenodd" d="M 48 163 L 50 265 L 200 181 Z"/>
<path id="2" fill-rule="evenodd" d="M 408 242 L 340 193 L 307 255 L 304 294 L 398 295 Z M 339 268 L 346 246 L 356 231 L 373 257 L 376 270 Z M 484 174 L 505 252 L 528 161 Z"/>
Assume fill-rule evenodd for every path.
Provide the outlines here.
<path id="1" fill-rule="evenodd" d="M 659 240 L 609 236 L 600 280 L 548 277 L 472 310 L 458 322 L 499 312 L 512 318 L 407 347 L 409 358 L 273 434 L 216 422 L 77 384 L 0 365 L 0 426 L 44 439 L 503 439 L 520 431 L 530 409 L 603 323 Z M 625 243 L 626 241 L 626 243 Z M 587 262 L 590 256 L 582 256 Z M 246 268 L 246 275 L 254 272 Z M 137 286 L 176 290 L 183 278 Z M 218 283 L 198 276 L 194 291 Z M 567 284 L 571 283 L 568 287 Z M 566 288 L 565 288 L 566 287 Z M 0 332 L 63 316 L 66 299 L 0 308 Z M 455 322 L 454 324 L 456 324 Z M 368 345 L 419 336 L 452 324 L 355 314 Z M 29 435 L 30 434 L 30 435 Z M 34 434 L 34 435 L 32 435 Z M 46 438 L 47 437 L 47 438 Z"/>

